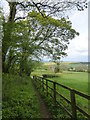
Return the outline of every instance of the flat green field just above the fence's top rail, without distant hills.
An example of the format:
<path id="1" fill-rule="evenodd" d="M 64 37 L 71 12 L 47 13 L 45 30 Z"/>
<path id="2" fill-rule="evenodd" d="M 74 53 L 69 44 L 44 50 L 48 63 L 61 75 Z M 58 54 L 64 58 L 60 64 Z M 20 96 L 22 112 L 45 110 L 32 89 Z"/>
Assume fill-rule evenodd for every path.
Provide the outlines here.
<path id="1" fill-rule="evenodd" d="M 35 71 L 33 75 L 42 76 L 42 74 L 55 74 L 52 71 Z M 71 88 L 77 89 L 81 92 L 88 94 L 88 73 L 87 72 L 68 72 L 56 73 L 59 77 L 49 78 L 55 82 L 64 84 Z"/>

